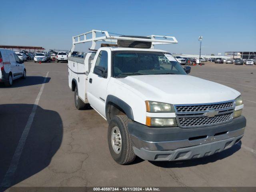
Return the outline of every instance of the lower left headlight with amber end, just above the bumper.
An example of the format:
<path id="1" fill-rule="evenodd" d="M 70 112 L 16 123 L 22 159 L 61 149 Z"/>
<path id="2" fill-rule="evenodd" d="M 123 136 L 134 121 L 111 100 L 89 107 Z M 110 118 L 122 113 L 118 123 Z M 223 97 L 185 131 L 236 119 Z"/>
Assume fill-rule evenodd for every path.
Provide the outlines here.
<path id="1" fill-rule="evenodd" d="M 152 126 L 152 127 L 177 126 L 175 118 L 155 118 L 155 117 L 146 117 L 146 125 Z"/>

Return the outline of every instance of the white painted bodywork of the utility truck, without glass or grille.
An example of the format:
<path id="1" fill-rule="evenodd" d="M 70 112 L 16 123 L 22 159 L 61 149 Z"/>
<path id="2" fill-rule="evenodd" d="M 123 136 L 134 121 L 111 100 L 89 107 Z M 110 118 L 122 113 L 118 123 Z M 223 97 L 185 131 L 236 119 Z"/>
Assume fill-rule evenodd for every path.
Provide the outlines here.
<path id="1" fill-rule="evenodd" d="M 102 78 L 92 72 L 101 50 L 108 52 L 107 78 Z M 240 92 L 230 87 L 189 75 L 137 75 L 113 78 L 110 75 L 112 74 L 111 52 L 116 50 L 166 52 L 156 49 L 104 47 L 96 53 L 91 67 L 88 66 L 88 60 L 86 59 L 84 64 L 68 61 L 68 66 L 71 68 L 71 70 L 69 69 L 70 88 L 72 79 L 76 79 L 78 82 L 79 77 L 79 97 L 84 102 L 90 103 L 105 119 L 105 101 L 108 95 L 116 96 L 126 102 L 132 108 L 134 121 L 141 124 L 146 124 L 146 116 L 175 117 L 175 113 L 146 112 L 146 100 L 169 104 L 204 104 L 234 100 L 240 95 Z M 72 70 L 75 70 L 78 74 L 74 74 Z M 86 71 L 88 75 L 82 74 Z M 92 78 L 92 84 L 88 82 L 90 78 Z"/>

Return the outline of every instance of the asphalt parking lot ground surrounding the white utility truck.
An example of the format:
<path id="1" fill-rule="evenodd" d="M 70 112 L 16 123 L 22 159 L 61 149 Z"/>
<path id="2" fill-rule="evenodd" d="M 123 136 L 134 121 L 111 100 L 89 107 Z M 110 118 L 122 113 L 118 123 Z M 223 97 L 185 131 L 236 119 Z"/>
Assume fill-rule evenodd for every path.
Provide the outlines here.
<path id="1" fill-rule="evenodd" d="M 0 186 L 256 186 L 256 66 L 206 63 L 190 74 L 242 93 L 242 142 L 206 158 L 126 166 L 110 156 L 107 122 L 76 110 L 66 63 L 25 66 L 25 80 L 0 85 Z"/>

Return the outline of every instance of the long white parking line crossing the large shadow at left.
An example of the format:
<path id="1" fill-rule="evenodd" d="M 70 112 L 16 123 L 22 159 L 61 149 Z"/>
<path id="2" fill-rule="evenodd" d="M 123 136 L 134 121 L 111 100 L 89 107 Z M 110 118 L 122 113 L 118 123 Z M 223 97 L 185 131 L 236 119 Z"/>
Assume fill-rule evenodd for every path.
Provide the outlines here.
<path id="1" fill-rule="evenodd" d="M 32 122 L 34 120 L 34 116 L 36 114 L 36 108 L 38 106 L 38 103 L 39 103 L 40 97 L 42 95 L 42 92 L 44 90 L 44 84 L 46 82 L 48 74 L 49 74 L 49 72 L 47 72 L 47 74 L 46 74 L 46 76 L 44 78 L 44 81 L 42 83 L 40 91 L 39 91 L 39 93 L 38 93 L 38 95 L 36 97 L 36 100 L 34 102 L 34 106 L 32 108 L 32 112 L 31 112 L 30 116 L 28 117 L 27 124 L 26 124 L 26 126 L 25 126 L 25 128 L 24 128 L 24 130 L 22 132 L 22 135 L 21 135 L 20 140 L 18 142 L 18 146 L 17 146 L 17 148 L 16 148 L 16 150 L 14 152 L 14 155 L 12 157 L 12 161 L 11 161 L 10 167 L 7 170 L 7 172 L 6 172 L 5 176 L 4 176 L 4 179 L 3 179 L 3 181 L 2 181 L 2 183 L 0 185 L 2 187 L 9 187 L 9 186 L 11 186 L 12 177 L 13 177 L 14 173 L 16 172 L 16 169 L 17 169 L 17 166 L 18 166 L 18 163 L 19 163 L 19 160 L 20 160 L 20 156 L 22 154 L 23 147 L 24 147 L 24 145 L 26 143 L 26 139 L 28 137 L 28 133 L 30 131 Z"/>

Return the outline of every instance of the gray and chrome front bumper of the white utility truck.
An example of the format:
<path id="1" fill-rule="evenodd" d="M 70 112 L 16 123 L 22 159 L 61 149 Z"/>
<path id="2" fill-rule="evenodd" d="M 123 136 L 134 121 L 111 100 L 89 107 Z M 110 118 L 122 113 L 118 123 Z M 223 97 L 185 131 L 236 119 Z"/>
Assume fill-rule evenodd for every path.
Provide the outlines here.
<path id="1" fill-rule="evenodd" d="M 134 153 L 144 160 L 174 161 L 209 156 L 228 149 L 242 138 L 246 119 L 204 128 L 150 128 L 128 124 Z M 204 137 L 203 137 L 204 136 Z"/>

